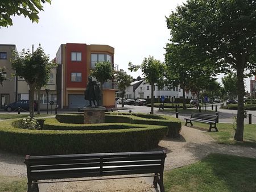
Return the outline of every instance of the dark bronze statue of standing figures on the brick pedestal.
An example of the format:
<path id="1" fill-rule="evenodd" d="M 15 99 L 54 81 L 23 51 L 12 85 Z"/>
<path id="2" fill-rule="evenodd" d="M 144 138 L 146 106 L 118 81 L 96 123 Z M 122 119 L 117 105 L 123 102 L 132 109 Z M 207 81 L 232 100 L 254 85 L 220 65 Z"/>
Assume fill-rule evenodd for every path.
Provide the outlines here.
<path id="1" fill-rule="evenodd" d="M 97 84 L 97 81 L 92 81 L 92 77 L 88 77 L 88 83 L 86 86 L 86 90 L 84 93 L 85 100 L 88 100 L 90 102 L 90 105 L 86 107 L 92 107 L 92 101 L 94 106 L 100 106 L 100 99 L 101 99 L 101 90 L 100 85 Z M 97 105 L 95 105 L 95 101 L 97 102 Z"/>

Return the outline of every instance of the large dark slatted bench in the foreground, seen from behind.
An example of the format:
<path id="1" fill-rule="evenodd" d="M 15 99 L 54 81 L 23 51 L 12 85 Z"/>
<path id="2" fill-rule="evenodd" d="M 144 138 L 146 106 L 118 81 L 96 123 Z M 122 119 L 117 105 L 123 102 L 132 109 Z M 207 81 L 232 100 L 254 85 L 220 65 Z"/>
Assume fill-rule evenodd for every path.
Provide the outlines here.
<path id="1" fill-rule="evenodd" d="M 91 181 L 115 179 L 102 176 L 121 175 L 130 176 L 116 178 L 154 177 L 154 187 L 159 184 L 160 191 L 164 191 L 163 170 L 165 158 L 165 151 L 51 156 L 27 155 L 24 161 L 27 165 L 27 191 L 39 191 L 38 183 L 68 182 L 67 180 L 59 181 L 59 179 L 80 178 L 75 181 Z M 86 177 L 102 178 L 86 179 Z"/>

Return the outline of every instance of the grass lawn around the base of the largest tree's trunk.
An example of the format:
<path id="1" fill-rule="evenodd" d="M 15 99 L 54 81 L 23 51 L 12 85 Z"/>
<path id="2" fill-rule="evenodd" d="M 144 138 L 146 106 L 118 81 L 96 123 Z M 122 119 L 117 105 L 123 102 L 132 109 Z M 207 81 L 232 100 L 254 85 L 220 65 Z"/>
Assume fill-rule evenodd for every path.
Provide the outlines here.
<path id="1" fill-rule="evenodd" d="M 184 124 L 185 123 L 183 123 L 183 125 Z M 218 132 L 207 132 L 207 134 L 213 137 L 217 143 L 245 145 L 256 148 L 256 124 L 245 124 L 243 131 L 243 141 L 234 141 L 234 126 L 236 126 L 236 124 L 217 123 Z M 209 129 L 209 125 L 206 123 L 193 122 L 193 127 L 203 128 L 204 130 Z"/>

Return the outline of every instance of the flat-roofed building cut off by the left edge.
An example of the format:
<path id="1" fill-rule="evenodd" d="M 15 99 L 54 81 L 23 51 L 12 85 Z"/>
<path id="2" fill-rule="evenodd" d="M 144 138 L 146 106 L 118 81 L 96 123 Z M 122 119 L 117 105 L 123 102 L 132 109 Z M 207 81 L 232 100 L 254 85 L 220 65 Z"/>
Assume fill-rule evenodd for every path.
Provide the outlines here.
<path id="1" fill-rule="evenodd" d="M 8 79 L 3 82 L 3 86 L 0 85 L 0 108 L 18 99 L 17 78 L 13 76 L 14 70 L 11 69 L 10 61 L 13 57 L 13 51 L 17 51 L 16 45 L 0 45 L 0 68 L 5 68 L 6 78 Z"/>

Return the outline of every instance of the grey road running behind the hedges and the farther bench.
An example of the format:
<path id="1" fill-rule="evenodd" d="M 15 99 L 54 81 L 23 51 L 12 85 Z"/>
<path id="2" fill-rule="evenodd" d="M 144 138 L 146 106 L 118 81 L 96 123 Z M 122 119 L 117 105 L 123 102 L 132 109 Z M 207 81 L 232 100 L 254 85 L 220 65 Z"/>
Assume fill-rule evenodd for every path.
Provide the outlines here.
<path id="1" fill-rule="evenodd" d="M 237 110 L 225 110 L 220 108 L 220 104 L 213 104 L 213 108 L 215 110 L 215 105 L 217 105 L 217 112 L 219 115 L 219 120 L 218 122 L 220 123 L 234 123 L 235 119 L 233 118 L 234 116 L 237 116 Z M 125 111 L 129 112 L 130 110 L 132 112 L 144 112 L 146 114 L 150 114 L 151 107 L 147 106 L 130 106 L 130 105 L 125 105 L 125 107 L 122 109 L 121 105 L 117 105 L 118 111 Z M 212 110 L 212 104 L 209 104 L 207 106 L 207 110 Z M 213 112 L 214 112 L 213 110 Z M 203 112 L 203 110 L 202 110 Z M 159 111 L 159 108 L 154 108 L 154 114 L 168 114 L 171 116 L 176 117 L 175 112 L 165 112 L 164 110 Z M 253 124 L 256 124 L 256 111 L 247 111 L 247 114 L 251 114 L 251 122 Z M 188 114 L 179 114 L 179 119 L 184 120 L 186 117 L 190 117 L 190 113 Z M 245 119 L 245 123 L 249 123 L 249 119 Z"/>

